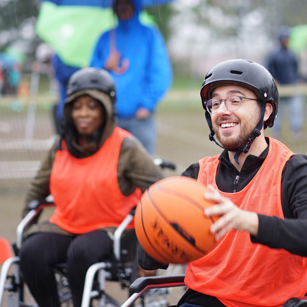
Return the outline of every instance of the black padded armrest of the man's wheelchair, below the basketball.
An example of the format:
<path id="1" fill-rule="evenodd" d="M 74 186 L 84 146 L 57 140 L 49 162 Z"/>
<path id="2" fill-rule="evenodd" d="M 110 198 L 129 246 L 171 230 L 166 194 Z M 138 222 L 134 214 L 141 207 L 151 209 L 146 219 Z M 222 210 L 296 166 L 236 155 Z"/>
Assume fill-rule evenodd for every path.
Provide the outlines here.
<path id="1" fill-rule="evenodd" d="M 129 293 L 144 292 L 153 288 L 169 288 L 185 286 L 185 275 L 153 276 L 140 277 L 136 279 L 129 287 Z"/>

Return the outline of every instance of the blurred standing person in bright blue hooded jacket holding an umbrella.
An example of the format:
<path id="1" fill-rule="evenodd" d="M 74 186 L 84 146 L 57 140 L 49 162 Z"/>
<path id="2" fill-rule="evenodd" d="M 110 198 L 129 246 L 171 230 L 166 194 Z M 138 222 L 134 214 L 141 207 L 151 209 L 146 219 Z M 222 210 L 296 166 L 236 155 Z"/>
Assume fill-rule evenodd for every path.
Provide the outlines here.
<path id="1" fill-rule="evenodd" d="M 157 138 L 154 111 L 169 90 L 173 74 L 161 33 L 139 21 L 140 1 L 114 1 L 118 26 L 99 38 L 91 66 L 111 73 L 118 126 L 134 134 L 153 155 Z"/>

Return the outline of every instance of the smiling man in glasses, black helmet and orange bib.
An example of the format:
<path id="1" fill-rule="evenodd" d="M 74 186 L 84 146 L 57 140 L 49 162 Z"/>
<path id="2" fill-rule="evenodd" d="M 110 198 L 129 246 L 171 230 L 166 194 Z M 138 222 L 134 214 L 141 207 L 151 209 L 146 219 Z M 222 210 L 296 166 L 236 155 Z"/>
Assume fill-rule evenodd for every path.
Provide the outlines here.
<path id="1" fill-rule="evenodd" d="M 281 306 L 307 293 L 307 156 L 264 136 L 278 111 L 278 90 L 261 65 L 228 60 L 214 66 L 200 91 L 209 139 L 224 148 L 182 174 L 209 187 L 220 216 L 217 244 L 189 262 L 188 290 L 177 306 Z M 212 175 L 213 174 L 213 175 Z M 165 266 L 138 246 L 143 268 Z"/>

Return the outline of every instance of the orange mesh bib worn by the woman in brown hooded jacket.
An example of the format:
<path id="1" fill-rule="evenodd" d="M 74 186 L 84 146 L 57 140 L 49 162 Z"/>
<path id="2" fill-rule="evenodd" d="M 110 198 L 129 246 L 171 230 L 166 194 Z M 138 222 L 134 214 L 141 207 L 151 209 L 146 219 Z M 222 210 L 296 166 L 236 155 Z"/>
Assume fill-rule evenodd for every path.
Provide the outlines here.
<path id="1" fill-rule="evenodd" d="M 50 223 L 76 234 L 119 226 L 142 195 L 136 188 L 124 196 L 118 185 L 119 151 L 128 136 L 129 132 L 116 127 L 94 155 L 82 159 L 73 157 L 64 142 L 63 150 L 56 152 L 50 176 L 56 204 Z M 129 227 L 134 227 L 133 221 Z"/>

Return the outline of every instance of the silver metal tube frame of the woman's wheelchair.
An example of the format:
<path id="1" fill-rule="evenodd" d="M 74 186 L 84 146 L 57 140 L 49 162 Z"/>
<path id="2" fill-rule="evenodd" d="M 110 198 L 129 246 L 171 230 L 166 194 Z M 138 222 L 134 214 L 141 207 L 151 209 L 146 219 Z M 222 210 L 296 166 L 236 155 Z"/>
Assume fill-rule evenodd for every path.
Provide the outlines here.
<path id="1" fill-rule="evenodd" d="M 29 208 L 31 209 L 29 213 L 21 220 L 21 222 L 17 226 L 17 240 L 16 245 L 14 245 L 15 254 L 18 255 L 18 251 L 21 248 L 23 233 L 25 227 L 29 225 L 29 223 L 36 218 L 39 213 L 48 207 L 53 207 L 53 202 L 49 202 L 46 200 L 38 201 L 34 200 L 29 204 Z M 131 278 L 133 277 L 132 270 L 133 266 L 129 268 L 129 270 L 125 270 L 123 263 L 121 262 L 121 236 L 123 231 L 129 225 L 131 220 L 133 219 L 135 209 L 132 209 L 131 212 L 126 216 L 126 218 L 122 221 L 119 227 L 116 228 L 114 232 L 113 239 L 113 254 L 115 256 L 115 261 L 106 261 L 106 262 L 97 262 L 91 265 L 86 273 L 85 283 L 84 283 L 84 292 L 82 297 L 81 307 L 90 306 L 92 298 L 99 298 L 99 305 L 103 306 L 106 302 L 111 302 L 113 305 L 120 307 L 122 303 L 119 303 L 113 297 L 105 293 L 105 282 L 106 280 L 114 280 L 114 273 L 111 270 L 115 270 L 114 266 L 119 268 L 116 271 L 118 281 L 120 282 L 122 288 L 128 288 L 130 285 Z M 20 268 L 19 268 L 20 258 L 18 256 L 7 259 L 1 268 L 0 272 L 0 305 L 2 304 L 4 292 L 7 291 L 7 305 L 10 307 L 34 307 L 37 305 L 27 305 L 24 303 L 24 282 L 22 280 Z M 9 275 L 10 268 L 14 265 L 14 273 L 13 275 Z M 55 274 L 58 273 L 60 275 L 64 275 L 60 266 L 55 266 Z M 95 275 L 98 274 L 98 282 L 99 282 L 99 290 L 93 290 L 93 284 L 95 280 Z M 113 274 L 112 274 L 113 273 Z M 6 281 L 10 279 L 10 283 L 6 283 Z M 67 283 L 68 285 L 68 283 Z M 66 286 L 67 286 L 66 285 Z M 63 286 L 59 286 L 58 290 L 64 288 Z M 60 302 L 68 299 L 66 296 L 61 297 L 59 295 Z"/>

